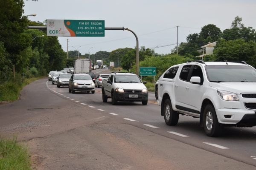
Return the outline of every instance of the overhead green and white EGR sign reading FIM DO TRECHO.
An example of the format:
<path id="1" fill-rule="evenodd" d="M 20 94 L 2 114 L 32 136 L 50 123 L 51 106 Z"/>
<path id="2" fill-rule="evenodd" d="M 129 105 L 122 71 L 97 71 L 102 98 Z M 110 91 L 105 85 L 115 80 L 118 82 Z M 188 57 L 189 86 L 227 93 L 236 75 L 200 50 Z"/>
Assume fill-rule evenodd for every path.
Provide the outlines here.
<path id="1" fill-rule="evenodd" d="M 105 21 L 47 20 L 47 36 L 105 37 Z"/>

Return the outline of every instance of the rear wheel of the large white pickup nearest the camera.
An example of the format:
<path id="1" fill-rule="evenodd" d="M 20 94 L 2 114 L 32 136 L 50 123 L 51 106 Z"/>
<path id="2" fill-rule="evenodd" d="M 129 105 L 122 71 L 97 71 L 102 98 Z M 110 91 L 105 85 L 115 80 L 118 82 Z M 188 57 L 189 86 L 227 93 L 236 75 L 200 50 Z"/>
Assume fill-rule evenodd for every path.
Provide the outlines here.
<path id="1" fill-rule="evenodd" d="M 164 120 L 166 125 L 177 125 L 179 121 L 179 113 L 172 109 L 170 99 L 166 99 L 164 102 Z"/>

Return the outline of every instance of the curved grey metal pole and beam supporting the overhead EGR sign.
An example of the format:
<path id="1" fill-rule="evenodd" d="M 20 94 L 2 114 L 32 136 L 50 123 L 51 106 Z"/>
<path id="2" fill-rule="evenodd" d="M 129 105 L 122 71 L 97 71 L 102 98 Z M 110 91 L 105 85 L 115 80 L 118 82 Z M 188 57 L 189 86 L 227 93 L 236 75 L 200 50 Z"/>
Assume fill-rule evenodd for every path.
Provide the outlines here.
<path id="1" fill-rule="evenodd" d="M 47 26 L 28 26 L 29 29 L 47 29 Z M 136 38 L 136 74 L 139 75 L 139 39 L 134 31 L 124 27 L 105 27 L 105 30 L 127 30 L 134 34 Z"/>

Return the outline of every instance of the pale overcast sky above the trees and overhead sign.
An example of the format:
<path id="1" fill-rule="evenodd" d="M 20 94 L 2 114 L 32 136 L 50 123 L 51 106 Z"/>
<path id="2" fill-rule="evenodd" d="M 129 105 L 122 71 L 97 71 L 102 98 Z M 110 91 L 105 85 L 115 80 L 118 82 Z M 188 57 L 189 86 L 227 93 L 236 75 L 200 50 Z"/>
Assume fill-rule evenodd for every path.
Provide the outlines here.
<path id="1" fill-rule="evenodd" d="M 177 42 L 186 42 L 186 36 L 198 33 L 207 24 L 215 24 L 221 31 L 230 28 L 236 16 L 242 17 L 246 27 L 256 28 L 255 0 L 32 0 L 26 1 L 24 15 L 32 21 L 105 20 L 105 27 L 130 28 L 139 37 L 139 46 L 154 48 L 159 54 L 168 54 Z M 136 46 L 129 31 L 106 30 L 105 37 L 58 37 L 64 51 L 78 50 L 81 54 L 113 51 Z M 120 40 L 121 39 L 121 40 Z M 169 45 L 166 47 L 155 48 Z M 74 46 L 75 48 L 72 48 Z M 93 47 L 93 48 L 92 48 Z"/>

